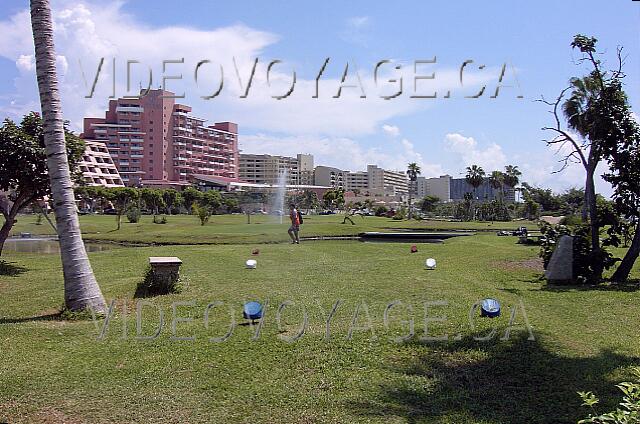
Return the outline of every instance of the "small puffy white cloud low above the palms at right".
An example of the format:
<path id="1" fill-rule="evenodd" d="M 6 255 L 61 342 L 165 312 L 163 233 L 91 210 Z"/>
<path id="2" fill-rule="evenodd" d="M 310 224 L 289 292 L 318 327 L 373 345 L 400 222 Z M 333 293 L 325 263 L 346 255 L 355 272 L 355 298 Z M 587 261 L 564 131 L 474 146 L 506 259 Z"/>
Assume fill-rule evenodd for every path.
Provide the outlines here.
<path id="1" fill-rule="evenodd" d="M 464 166 L 479 165 L 486 172 L 491 172 L 507 165 L 507 156 L 497 143 L 489 143 L 485 148 L 479 148 L 473 137 L 465 137 L 459 133 L 447 134 L 445 143 L 449 151 L 460 156 Z"/>

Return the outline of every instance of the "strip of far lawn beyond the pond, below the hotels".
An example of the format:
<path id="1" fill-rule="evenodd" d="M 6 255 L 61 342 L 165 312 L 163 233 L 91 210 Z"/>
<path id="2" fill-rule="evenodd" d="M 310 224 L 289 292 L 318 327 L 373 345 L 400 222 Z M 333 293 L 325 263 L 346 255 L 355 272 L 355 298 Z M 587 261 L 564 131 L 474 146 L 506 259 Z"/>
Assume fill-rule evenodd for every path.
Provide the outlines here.
<path id="1" fill-rule="evenodd" d="M 215 215 L 209 223 L 202 226 L 195 216 L 167 216 L 167 224 L 154 224 L 151 216 L 143 216 L 139 223 L 131 224 L 122 218 L 122 228 L 116 231 L 116 217 L 105 215 L 85 215 L 80 217 L 82 231 L 87 240 L 127 241 L 156 244 L 237 244 L 256 242 L 279 242 L 288 240 L 286 224 L 279 223 L 275 216 L 253 215 L 251 224 L 247 224 L 244 215 Z M 397 228 L 424 230 L 473 229 L 479 231 L 497 231 L 515 229 L 525 225 L 537 229 L 533 222 L 443 222 L 443 221 L 394 221 L 380 217 L 353 217 L 355 225 L 342 224 L 343 215 L 308 216 L 301 227 L 305 237 L 320 235 L 357 235 L 363 231 L 380 231 Z M 53 228 L 43 220 L 36 225 L 35 215 L 21 215 L 12 234 L 21 232 L 32 234 L 55 234 Z"/>

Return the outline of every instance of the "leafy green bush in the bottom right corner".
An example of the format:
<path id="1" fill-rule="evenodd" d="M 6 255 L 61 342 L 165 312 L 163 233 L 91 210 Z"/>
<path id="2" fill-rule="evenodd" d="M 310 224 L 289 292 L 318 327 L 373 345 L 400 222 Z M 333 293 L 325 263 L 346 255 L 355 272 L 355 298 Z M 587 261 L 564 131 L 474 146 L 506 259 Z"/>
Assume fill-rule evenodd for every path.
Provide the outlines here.
<path id="1" fill-rule="evenodd" d="M 616 387 L 624 394 L 621 408 L 601 415 L 589 414 L 589 417 L 578 421 L 578 424 L 640 424 L 640 367 L 633 368 L 635 382 L 623 382 Z M 578 392 L 582 406 L 588 406 L 595 412 L 595 405 L 600 401 L 593 392 Z"/>

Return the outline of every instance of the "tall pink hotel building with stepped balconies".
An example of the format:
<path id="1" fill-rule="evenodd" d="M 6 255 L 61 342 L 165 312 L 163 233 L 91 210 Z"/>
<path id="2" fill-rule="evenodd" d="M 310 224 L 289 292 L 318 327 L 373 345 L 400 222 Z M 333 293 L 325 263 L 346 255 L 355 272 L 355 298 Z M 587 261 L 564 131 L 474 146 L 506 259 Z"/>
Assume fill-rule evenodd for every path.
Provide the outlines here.
<path id="1" fill-rule="evenodd" d="M 190 176 L 238 178 L 238 125 L 190 115 L 173 93 L 109 101 L 104 118 L 85 118 L 81 137 L 105 143 L 125 185 L 186 185 Z"/>

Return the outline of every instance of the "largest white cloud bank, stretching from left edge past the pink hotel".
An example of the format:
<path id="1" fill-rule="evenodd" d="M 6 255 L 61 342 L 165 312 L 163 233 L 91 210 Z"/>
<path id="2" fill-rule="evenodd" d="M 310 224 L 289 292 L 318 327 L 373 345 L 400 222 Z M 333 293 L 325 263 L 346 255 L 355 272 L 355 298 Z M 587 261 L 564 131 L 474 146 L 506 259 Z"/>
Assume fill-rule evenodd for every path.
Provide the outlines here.
<path id="1" fill-rule="evenodd" d="M 286 90 L 291 81 L 291 65 L 274 67 L 270 83 L 267 84 L 266 68 L 270 60 L 265 49 L 277 42 L 278 36 L 266 31 L 244 25 L 234 25 L 213 29 L 194 29 L 189 27 L 150 27 L 137 21 L 121 10 L 121 2 L 54 0 L 53 15 L 55 26 L 56 50 L 59 55 L 60 88 L 65 117 L 77 130 L 81 128 L 82 118 L 87 115 L 101 115 L 108 106 L 111 95 L 113 70 L 111 59 L 116 58 L 116 95 L 126 94 L 126 61 L 139 60 L 144 66 L 150 66 L 154 72 L 153 87 L 158 87 L 162 77 L 162 61 L 184 58 L 184 65 L 171 65 L 167 74 L 183 75 L 182 81 L 170 81 L 170 88 L 176 93 L 185 92 L 184 103 L 193 106 L 194 113 L 212 120 L 231 120 L 243 128 L 285 134 L 325 134 L 333 137 L 354 137 L 373 134 L 383 122 L 395 117 L 423 110 L 437 100 L 411 99 L 408 87 L 413 77 L 411 64 L 402 64 L 400 71 L 392 65 L 383 69 L 379 75 L 379 87 L 373 82 L 373 66 L 358 69 L 366 90 L 366 99 L 360 98 L 360 91 L 353 88 L 343 89 L 340 98 L 334 98 L 340 87 L 340 78 L 345 63 L 331 61 L 326 72 L 320 78 L 319 96 L 313 98 L 316 91 L 316 74 L 297 75 L 293 94 L 283 100 L 275 100 L 272 94 Z M 354 28 L 370 25 L 366 17 L 357 17 L 350 21 Z M 16 78 L 16 90 L 12 94 L 15 110 L 20 105 L 23 111 L 38 99 L 38 91 L 33 75 L 33 41 L 28 12 L 22 11 L 5 21 L 0 21 L 0 56 L 16 62 L 21 71 Z M 98 80 L 93 99 L 86 99 L 100 58 L 105 58 L 102 73 Z M 253 59 L 260 57 L 255 79 L 248 98 L 241 99 L 240 85 L 232 63 L 237 59 L 238 69 L 246 84 L 253 65 Z M 194 81 L 196 64 L 210 59 L 213 65 L 202 68 L 200 87 Z M 80 67 L 82 63 L 82 68 Z M 400 63 L 398 63 L 400 64 Z M 132 92 L 135 94 L 141 79 L 146 80 L 142 66 L 134 66 Z M 224 67 L 224 89 L 222 94 L 212 100 L 199 98 L 205 94 L 204 88 L 215 91 L 219 83 L 218 65 Z M 318 63 L 319 71 L 322 61 Z M 350 81 L 355 80 L 357 66 L 349 63 Z M 391 71 L 388 71 L 391 70 Z M 435 81 L 423 81 L 424 92 L 438 91 L 440 96 L 446 90 L 459 87 L 458 70 L 436 66 Z M 84 72 L 84 75 L 83 75 Z M 465 81 L 465 90 L 474 85 L 495 79 L 495 72 L 485 72 L 481 76 L 469 76 Z M 392 100 L 380 98 L 397 84 L 385 83 L 385 78 L 394 76 L 403 78 L 405 93 Z M 143 78 L 144 77 L 144 78 Z M 146 81 L 145 84 L 146 85 Z M 468 88 L 470 86 L 471 88 Z M 2 105 L 0 105 L 2 107 Z"/>

